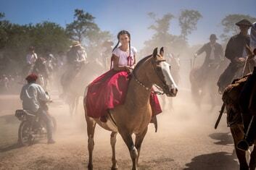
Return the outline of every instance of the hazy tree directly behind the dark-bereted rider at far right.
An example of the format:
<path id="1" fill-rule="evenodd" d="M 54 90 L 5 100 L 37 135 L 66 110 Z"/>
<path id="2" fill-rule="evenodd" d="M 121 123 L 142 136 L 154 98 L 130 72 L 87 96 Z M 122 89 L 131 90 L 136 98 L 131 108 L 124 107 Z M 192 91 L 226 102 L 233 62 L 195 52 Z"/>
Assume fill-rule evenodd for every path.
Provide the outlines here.
<path id="1" fill-rule="evenodd" d="M 228 14 L 221 20 L 221 25 L 223 26 L 223 34 L 220 36 L 224 42 L 228 41 L 231 35 L 239 33 L 239 27 L 235 24 L 240 20 L 247 19 L 250 22 L 255 22 L 256 18 L 245 14 Z"/>

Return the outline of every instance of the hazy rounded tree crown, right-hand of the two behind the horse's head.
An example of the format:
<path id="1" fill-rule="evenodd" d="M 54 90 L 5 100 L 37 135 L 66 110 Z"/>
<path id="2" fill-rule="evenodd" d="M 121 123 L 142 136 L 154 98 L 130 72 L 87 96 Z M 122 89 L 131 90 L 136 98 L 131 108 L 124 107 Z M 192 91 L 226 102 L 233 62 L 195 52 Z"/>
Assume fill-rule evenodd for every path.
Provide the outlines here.
<path id="1" fill-rule="evenodd" d="M 181 11 L 178 22 L 181 27 L 181 37 L 186 40 L 187 35 L 191 34 L 193 30 L 197 30 L 197 22 L 202 18 L 202 14 L 195 10 L 185 9 Z"/>

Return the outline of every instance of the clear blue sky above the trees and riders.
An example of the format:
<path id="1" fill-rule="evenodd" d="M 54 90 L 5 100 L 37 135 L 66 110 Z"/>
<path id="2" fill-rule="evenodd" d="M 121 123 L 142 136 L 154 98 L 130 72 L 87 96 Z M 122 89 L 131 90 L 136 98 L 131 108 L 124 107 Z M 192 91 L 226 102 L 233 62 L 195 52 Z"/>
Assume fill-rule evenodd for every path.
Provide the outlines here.
<path id="1" fill-rule="evenodd" d="M 65 27 L 73 21 L 75 9 L 83 9 L 95 17 L 101 30 L 116 37 L 120 30 L 131 33 L 131 43 L 138 49 L 149 40 L 153 31 L 148 27 L 154 23 L 148 13 L 158 18 L 171 13 L 176 16 L 170 22 L 170 33 L 179 35 L 178 15 L 182 9 L 194 9 L 202 14 L 197 30 L 188 37 L 190 45 L 207 43 L 211 33 L 220 35 L 221 20 L 228 14 L 249 14 L 256 17 L 256 0 L 0 0 L 0 12 L 5 19 L 17 24 L 57 22 Z M 115 39 L 115 41 L 117 41 Z"/>

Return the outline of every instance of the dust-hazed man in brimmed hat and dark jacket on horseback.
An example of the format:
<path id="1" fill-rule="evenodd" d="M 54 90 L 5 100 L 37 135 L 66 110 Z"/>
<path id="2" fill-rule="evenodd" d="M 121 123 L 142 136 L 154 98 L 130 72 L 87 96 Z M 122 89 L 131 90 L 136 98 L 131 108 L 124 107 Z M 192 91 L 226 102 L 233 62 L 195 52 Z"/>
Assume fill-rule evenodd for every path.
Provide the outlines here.
<path id="1" fill-rule="evenodd" d="M 199 69 L 199 74 L 197 75 L 200 79 L 200 82 L 205 80 L 205 78 L 209 75 L 210 71 L 212 69 L 215 69 L 220 64 L 220 61 L 223 60 L 223 48 L 222 46 L 216 42 L 218 38 L 215 34 L 210 35 L 210 42 L 205 43 L 202 48 L 200 48 L 195 54 L 194 58 L 197 58 L 200 54 L 205 52 L 205 61 L 204 64 L 202 64 L 202 67 Z M 204 83 L 204 82 L 202 82 Z"/>

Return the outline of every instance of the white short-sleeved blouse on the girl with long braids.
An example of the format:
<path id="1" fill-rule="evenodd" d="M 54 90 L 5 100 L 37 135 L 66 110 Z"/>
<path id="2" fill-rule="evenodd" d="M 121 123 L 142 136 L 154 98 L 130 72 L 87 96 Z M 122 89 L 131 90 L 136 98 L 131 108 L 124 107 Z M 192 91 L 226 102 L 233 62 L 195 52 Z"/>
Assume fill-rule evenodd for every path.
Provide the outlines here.
<path id="1" fill-rule="evenodd" d="M 120 66 L 128 66 L 133 65 L 134 64 L 134 56 L 136 55 L 137 50 L 136 48 L 134 48 L 133 46 L 131 46 L 131 58 L 127 59 L 129 56 L 129 51 L 122 51 L 120 48 L 115 48 L 115 50 L 113 51 L 113 54 L 115 56 L 119 57 L 119 62 L 118 64 Z"/>

